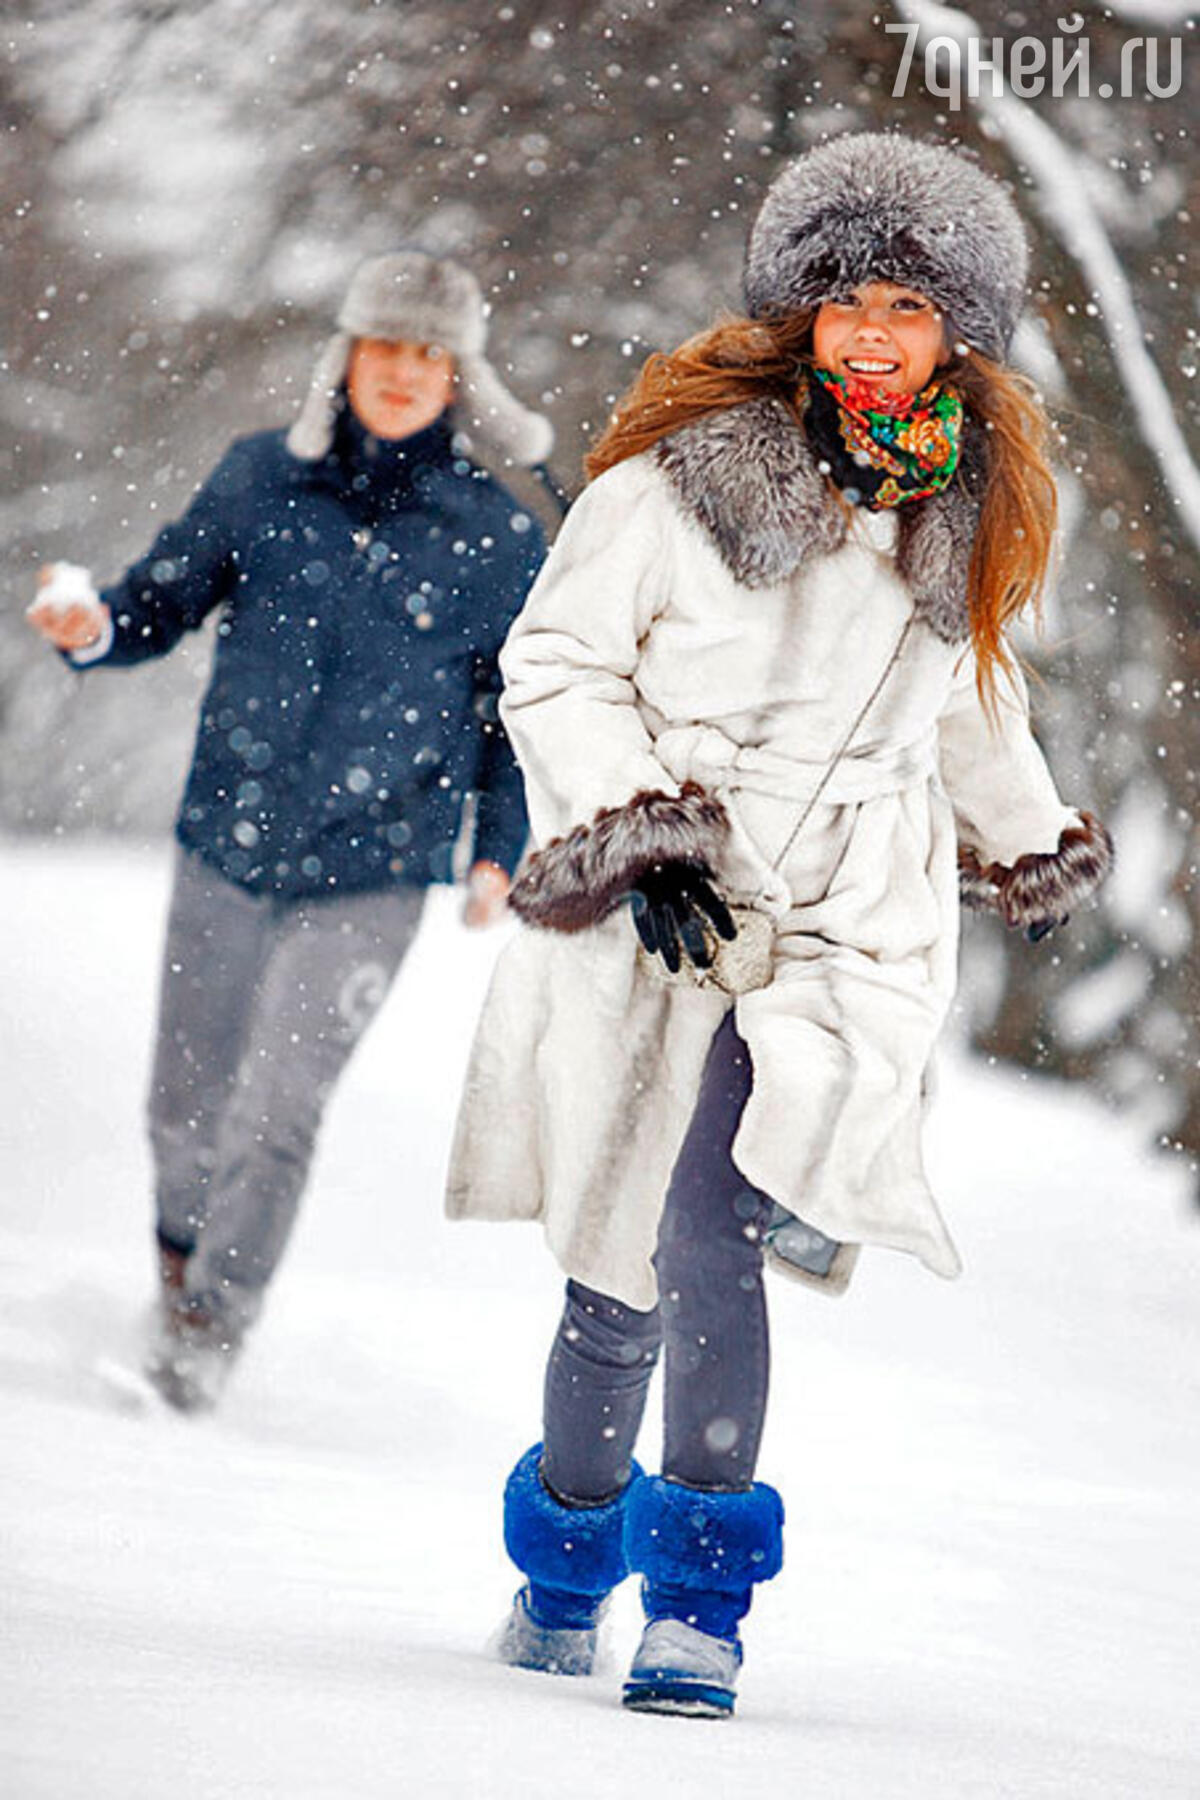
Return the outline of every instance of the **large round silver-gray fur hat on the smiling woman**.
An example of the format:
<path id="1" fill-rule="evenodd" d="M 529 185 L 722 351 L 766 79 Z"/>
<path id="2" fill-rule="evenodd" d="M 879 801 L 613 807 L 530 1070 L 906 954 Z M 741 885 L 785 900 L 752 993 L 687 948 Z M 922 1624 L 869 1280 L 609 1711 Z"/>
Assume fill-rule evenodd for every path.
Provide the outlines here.
<path id="1" fill-rule="evenodd" d="M 999 182 L 954 149 L 864 131 L 819 144 L 772 182 L 747 247 L 747 311 L 815 308 L 865 281 L 896 281 L 1002 360 L 1027 266 L 1020 214 Z"/>

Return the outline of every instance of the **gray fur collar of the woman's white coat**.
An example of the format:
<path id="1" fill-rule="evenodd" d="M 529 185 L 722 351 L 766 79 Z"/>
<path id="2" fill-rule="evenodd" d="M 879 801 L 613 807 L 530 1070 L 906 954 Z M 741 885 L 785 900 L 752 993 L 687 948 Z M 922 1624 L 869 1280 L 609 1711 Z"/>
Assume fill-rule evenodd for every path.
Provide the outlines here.
<path id="1" fill-rule="evenodd" d="M 964 427 L 961 481 L 898 508 L 896 567 L 916 616 L 945 643 L 970 635 L 966 572 L 979 524 L 982 441 Z M 730 574 L 774 587 L 846 542 L 846 513 L 804 427 L 781 400 L 748 400 L 660 439 L 655 455 Z"/>

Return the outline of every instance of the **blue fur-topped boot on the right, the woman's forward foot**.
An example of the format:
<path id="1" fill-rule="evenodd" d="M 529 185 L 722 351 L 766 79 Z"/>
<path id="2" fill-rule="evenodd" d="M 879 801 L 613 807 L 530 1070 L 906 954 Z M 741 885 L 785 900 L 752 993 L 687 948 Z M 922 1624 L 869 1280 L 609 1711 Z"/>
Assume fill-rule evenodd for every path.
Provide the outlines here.
<path id="1" fill-rule="evenodd" d="M 630 1489 L 626 1550 L 642 1575 L 646 1631 L 624 1705 L 729 1717 L 741 1667 L 738 1625 L 754 1584 L 783 1566 L 779 1494 L 766 1481 L 745 1494 L 712 1494 L 642 1476 Z"/>

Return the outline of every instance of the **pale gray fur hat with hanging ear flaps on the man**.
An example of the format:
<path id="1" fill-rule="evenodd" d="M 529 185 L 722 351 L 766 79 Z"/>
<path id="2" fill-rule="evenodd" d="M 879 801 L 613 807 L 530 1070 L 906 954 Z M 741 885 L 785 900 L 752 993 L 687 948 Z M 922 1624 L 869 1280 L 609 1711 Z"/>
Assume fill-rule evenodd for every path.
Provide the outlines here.
<path id="1" fill-rule="evenodd" d="M 484 356 L 488 315 L 475 275 L 444 257 L 398 250 L 354 270 L 338 329 L 317 358 L 311 387 L 288 432 L 291 455 L 317 463 L 329 450 L 351 346 L 360 337 L 441 344 L 457 364 L 452 412 L 468 443 L 477 439 L 500 461 L 525 466 L 551 454 L 551 421 L 522 407 Z"/>

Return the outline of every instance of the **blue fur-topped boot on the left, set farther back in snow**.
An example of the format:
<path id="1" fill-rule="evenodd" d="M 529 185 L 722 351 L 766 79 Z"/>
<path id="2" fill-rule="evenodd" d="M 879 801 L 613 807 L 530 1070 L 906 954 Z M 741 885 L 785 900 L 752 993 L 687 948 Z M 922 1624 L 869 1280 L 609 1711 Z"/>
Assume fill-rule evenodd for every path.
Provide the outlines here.
<path id="1" fill-rule="evenodd" d="M 567 1507 L 542 1480 L 542 1445 L 525 1451 L 504 1489 L 504 1548 L 525 1586 L 500 1627 L 500 1661 L 556 1676 L 592 1674 L 608 1595 L 630 1573 L 628 1492 L 601 1507 Z"/>

